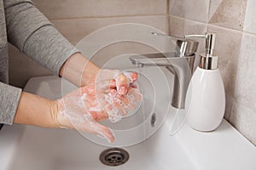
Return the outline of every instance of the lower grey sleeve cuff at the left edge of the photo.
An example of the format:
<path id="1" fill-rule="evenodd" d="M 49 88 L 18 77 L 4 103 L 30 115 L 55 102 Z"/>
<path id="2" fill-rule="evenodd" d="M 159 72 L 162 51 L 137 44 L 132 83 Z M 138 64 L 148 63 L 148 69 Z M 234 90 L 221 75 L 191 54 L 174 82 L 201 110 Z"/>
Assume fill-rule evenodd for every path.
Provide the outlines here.
<path id="1" fill-rule="evenodd" d="M 0 82 L 0 123 L 12 124 L 20 101 L 21 89 Z"/>

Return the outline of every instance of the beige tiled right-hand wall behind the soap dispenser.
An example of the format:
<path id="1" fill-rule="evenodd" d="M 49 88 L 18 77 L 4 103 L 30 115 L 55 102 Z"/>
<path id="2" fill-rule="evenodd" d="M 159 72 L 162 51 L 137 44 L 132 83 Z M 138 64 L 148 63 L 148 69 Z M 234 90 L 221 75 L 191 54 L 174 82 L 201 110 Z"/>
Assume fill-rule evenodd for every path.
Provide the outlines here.
<path id="1" fill-rule="evenodd" d="M 170 0 L 169 14 L 174 36 L 218 33 L 215 54 L 224 79 L 225 118 L 256 144 L 256 1 Z"/>

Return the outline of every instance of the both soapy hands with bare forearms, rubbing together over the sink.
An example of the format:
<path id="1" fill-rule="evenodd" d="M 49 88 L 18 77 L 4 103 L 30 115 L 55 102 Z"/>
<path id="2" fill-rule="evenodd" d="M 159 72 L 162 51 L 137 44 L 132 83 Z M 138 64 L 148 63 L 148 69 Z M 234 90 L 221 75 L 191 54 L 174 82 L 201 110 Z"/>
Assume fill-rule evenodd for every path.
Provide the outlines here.
<path id="1" fill-rule="evenodd" d="M 58 100 L 22 92 L 15 123 L 38 127 L 75 128 L 113 142 L 112 131 L 98 122 L 119 121 L 143 99 L 136 88 L 136 72 L 99 69 L 82 54 L 73 54 L 62 65 L 60 76 L 79 88 Z"/>

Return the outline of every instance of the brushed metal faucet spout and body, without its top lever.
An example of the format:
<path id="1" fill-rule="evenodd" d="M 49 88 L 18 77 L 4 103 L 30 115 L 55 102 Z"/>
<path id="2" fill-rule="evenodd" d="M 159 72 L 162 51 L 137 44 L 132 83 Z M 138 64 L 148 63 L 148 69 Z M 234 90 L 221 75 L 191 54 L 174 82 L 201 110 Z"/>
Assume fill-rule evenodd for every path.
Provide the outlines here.
<path id="1" fill-rule="evenodd" d="M 177 52 L 165 54 L 143 54 L 130 57 L 131 63 L 138 67 L 164 66 L 174 74 L 172 106 L 184 109 L 189 82 L 192 77 L 195 54 L 181 56 Z"/>

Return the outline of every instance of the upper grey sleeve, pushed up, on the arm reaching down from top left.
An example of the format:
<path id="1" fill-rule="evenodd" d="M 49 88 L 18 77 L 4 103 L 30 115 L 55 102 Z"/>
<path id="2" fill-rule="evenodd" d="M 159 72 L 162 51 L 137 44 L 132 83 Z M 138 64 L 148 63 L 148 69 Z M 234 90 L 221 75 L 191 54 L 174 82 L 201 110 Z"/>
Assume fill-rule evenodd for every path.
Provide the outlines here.
<path id="1" fill-rule="evenodd" d="M 40 65 L 59 75 L 61 65 L 79 52 L 30 0 L 4 0 L 8 40 Z"/>

